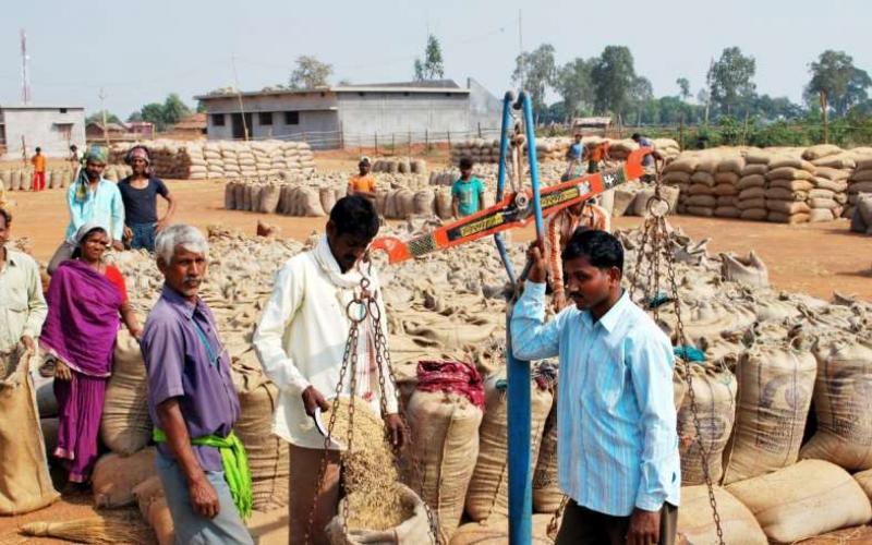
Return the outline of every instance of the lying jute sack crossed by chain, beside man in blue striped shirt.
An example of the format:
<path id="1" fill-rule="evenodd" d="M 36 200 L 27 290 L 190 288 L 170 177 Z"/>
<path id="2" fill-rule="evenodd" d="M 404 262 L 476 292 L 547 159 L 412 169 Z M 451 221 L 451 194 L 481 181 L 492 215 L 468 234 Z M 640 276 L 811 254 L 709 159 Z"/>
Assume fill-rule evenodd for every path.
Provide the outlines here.
<path id="1" fill-rule="evenodd" d="M 767 545 L 766 534 L 756 519 L 741 501 L 719 486 L 714 487 L 717 512 L 724 543 L 741 545 Z M 694 544 L 717 543 L 708 488 L 705 485 L 681 488 L 681 507 L 678 509 L 678 532 Z"/>

